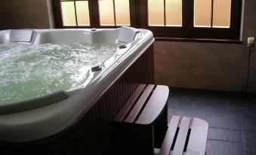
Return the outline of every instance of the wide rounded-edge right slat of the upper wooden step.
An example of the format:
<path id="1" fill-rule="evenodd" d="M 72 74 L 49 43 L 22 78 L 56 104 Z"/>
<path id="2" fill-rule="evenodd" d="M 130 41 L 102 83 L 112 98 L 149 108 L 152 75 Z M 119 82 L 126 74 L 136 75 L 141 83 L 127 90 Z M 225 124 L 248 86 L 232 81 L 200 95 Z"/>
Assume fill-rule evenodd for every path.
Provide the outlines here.
<path id="1" fill-rule="evenodd" d="M 169 89 L 166 86 L 158 85 L 136 123 L 150 124 L 162 114 L 168 100 Z"/>

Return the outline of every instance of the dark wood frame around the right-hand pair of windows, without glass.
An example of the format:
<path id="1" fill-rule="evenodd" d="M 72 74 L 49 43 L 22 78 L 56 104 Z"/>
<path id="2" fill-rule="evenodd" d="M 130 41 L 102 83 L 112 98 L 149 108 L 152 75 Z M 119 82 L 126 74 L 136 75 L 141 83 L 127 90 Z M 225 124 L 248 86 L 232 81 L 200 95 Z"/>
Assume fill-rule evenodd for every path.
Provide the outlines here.
<path id="1" fill-rule="evenodd" d="M 146 5 L 145 5 L 146 4 Z M 230 28 L 194 27 L 194 0 L 182 0 L 182 27 L 149 26 L 147 0 L 140 1 L 143 29 L 150 29 L 156 38 L 208 38 L 239 40 L 242 1 L 232 0 L 230 8 Z M 184 9 L 185 8 L 185 9 Z"/>

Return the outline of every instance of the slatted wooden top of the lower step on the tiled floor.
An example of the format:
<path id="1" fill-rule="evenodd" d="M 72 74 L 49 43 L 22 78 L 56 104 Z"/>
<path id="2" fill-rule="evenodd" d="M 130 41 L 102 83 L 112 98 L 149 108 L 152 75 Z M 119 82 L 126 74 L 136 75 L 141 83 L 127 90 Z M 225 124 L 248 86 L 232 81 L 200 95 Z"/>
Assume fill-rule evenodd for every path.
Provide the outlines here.
<path id="1" fill-rule="evenodd" d="M 207 134 L 205 120 L 173 116 L 159 155 L 205 155 Z"/>

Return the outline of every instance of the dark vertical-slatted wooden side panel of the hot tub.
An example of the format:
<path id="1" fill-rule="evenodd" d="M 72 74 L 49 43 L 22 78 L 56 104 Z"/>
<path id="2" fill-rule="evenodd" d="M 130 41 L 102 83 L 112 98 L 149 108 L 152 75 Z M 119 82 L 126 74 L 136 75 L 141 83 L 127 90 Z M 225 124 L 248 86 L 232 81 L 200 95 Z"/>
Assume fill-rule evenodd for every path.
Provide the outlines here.
<path id="1" fill-rule="evenodd" d="M 154 84 L 153 44 L 109 86 L 76 123 L 51 137 L 26 143 L 0 141 L 2 154 L 111 154 L 112 121 L 139 84 Z"/>

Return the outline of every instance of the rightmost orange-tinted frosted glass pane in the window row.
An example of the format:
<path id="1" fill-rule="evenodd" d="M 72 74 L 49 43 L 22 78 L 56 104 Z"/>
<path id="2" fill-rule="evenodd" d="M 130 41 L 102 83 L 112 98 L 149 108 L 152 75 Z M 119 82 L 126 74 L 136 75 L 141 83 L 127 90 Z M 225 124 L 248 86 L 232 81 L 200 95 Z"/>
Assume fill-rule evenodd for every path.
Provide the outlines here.
<path id="1" fill-rule="evenodd" d="M 214 0 L 213 27 L 230 27 L 231 0 Z"/>

